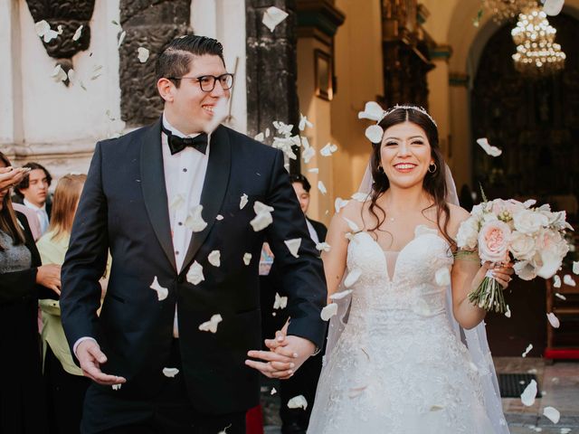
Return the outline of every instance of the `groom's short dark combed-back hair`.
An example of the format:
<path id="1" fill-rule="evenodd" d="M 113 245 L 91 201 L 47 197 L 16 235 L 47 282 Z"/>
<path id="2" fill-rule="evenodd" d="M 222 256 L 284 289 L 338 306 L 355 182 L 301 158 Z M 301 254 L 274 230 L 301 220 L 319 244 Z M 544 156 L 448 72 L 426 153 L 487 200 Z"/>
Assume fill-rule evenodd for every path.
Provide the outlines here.
<path id="1" fill-rule="evenodd" d="M 223 61 L 223 45 L 221 42 L 207 36 L 197 36 L 195 34 L 185 34 L 179 38 L 168 42 L 157 56 L 155 63 L 155 73 L 159 79 L 175 79 L 183 77 L 191 69 L 193 56 L 203 56 L 210 54 L 219 56 Z M 181 80 L 172 80 L 176 87 L 179 87 Z"/>

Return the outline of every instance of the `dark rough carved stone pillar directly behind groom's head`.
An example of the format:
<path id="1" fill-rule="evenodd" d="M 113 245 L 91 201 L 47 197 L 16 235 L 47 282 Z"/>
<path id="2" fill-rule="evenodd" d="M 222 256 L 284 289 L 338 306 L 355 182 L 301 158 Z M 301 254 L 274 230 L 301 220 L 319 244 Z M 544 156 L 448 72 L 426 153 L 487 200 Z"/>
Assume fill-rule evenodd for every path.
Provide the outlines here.
<path id="1" fill-rule="evenodd" d="M 120 113 L 129 127 L 153 122 L 163 111 L 155 78 L 157 53 L 192 32 L 190 7 L 190 0 L 120 1 L 120 25 L 126 32 L 119 48 Z M 138 60 L 139 47 L 149 51 L 145 63 Z"/>

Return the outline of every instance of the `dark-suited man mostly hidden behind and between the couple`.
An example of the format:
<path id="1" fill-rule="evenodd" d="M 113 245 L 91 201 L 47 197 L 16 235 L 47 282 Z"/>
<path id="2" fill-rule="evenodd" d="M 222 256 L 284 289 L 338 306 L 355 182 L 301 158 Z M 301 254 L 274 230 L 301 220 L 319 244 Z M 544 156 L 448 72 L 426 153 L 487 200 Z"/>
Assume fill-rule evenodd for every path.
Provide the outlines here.
<path id="1" fill-rule="evenodd" d="M 327 228 L 322 222 L 311 220 L 307 216 L 309 207 L 309 191 L 311 184 L 304 175 L 290 175 L 289 180 L 293 186 L 299 200 L 299 206 L 304 213 L 308 226 L 309 237 L 316 244 L 326 240 Z M 268 246 L 264 246 L 268 250 Z M 265 256 L 268 256 L 266 251 Z M 289 313 L 285 310 L 273 309 L 276 292 L 281 297 L 287 297 L 283 283 L 284 275 L 280 273 L 276 260 L 273 260 L 271 269 L 261 274 L 261 321 L 263 323 L 264 336 L 273 335 L 276 330 L 280 330 L 288 320 Z M 309 415 L 314 405 L 316 397 L 316 387 L 322 369 L 323 351 L 310 357 L 299 371 L 288 380 L 280 382 L 280 417 L 282 434 L 305 434 L 308 429 Z M 289 409 L 288 401 L 298 395 L 304 395 L 308 401 L 308 408 Z"/>

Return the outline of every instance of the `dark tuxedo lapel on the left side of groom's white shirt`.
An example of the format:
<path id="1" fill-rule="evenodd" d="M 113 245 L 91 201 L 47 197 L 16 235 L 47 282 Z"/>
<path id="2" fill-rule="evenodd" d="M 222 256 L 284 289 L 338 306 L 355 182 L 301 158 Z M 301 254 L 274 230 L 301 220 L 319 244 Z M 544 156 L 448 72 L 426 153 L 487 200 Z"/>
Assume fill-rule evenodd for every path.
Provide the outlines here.
<path id="1" fill-rule="evenodd" d="M 176 270 L 171 239 L 169 207 L 166 199 L 165 170 L 161 148 L 161 119 L 148 128 L 141 144 L 141 186 L 148 218 L 166 258 Z"/>

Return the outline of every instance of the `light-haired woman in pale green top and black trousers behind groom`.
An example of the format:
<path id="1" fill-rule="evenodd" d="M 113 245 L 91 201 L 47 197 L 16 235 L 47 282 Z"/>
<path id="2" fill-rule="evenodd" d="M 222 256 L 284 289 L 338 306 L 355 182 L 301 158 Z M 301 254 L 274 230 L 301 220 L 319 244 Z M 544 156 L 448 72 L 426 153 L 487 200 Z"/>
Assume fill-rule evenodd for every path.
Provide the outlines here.
<path id="1" fill-rule="evenodd" d="M 86 175 L 64 175 L 56 185 L 49 231 L 36 243 L 43 264 L 62 265 L 85 180 Z M 62 330 L 58 300 L 41 299 L 40 307 L 43 311 L 43 372 L 51 433 L 78 433 L 84 393 L 90 380 L 82 376 L 81 368 L 72 361 Z"/>

